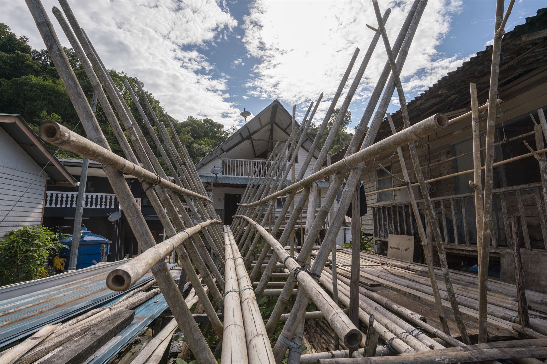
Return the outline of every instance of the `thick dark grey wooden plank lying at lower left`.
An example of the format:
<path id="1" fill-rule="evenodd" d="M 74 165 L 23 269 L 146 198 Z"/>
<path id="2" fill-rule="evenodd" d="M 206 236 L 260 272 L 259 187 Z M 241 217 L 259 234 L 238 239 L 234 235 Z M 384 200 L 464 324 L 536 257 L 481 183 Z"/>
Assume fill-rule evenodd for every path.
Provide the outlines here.
<path id="1" fill-rule="evenodd" d="M 95 351 L 100 349 L 110 339 L 127 327 L 135 311 L 121 309 L 111 319 L 102 321 L 94 329 L 86 332 L 73 341 L 62 345 L 53 355 L 44 357 L 41 364 L 81 364 L 86 361 Z M 52 354 L 52 353 L 50 353 Z"/>

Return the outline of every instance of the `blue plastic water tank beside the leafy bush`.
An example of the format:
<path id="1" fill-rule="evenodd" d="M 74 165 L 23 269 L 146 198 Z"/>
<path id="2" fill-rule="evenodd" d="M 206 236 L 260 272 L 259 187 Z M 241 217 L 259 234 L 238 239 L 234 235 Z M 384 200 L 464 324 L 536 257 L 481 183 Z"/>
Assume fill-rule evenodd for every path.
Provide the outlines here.
<path id="1" fill-rule="evenodd" d="M 80 237 L 80 244 L 78 246 L 78 263 L 76 269 L 87 268 L 93 265 L 93 261 L 101 261 L 101 245 L 106 245 L 106 254 L 110 253 L 110 243 L 106 237 L 101 235 L 92 234 L 87 228 L 82 229 L 82 237 Z M 72 235 L 61 239 L 61 243 L 68 245 L 68 248 L 61 250 L 60 258 L 65 258 L 65 270 L 68 269 L 70 252 L 72 248 Z"/>

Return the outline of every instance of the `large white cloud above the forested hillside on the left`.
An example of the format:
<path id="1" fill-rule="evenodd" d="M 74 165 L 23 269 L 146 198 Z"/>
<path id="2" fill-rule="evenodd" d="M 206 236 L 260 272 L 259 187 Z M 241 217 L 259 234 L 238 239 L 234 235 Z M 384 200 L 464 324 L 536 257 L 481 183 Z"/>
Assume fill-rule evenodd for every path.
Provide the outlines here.
<path id="1" fill-rule="evenodd" d="M 61 43 L 69 47 L 51 13 L 53 6 L 60 8 L 59 3 L 44 0 L 43 4 Z M 95 0 L 70 4 L 106 67 L 138 77 L 178 120 L 192 115 L 211 117 L 227 127 L 238 123 L 240 111 L 226 101 L 228 77 L 215 72 L 214 64 L 200 53 L 217 38 L 226 39 L 226 32 L 237 26 L 224 3 Z M 2 2 L 0 22 L 30 38 L 34 48 L 45 48 L 24 1 Z"/>

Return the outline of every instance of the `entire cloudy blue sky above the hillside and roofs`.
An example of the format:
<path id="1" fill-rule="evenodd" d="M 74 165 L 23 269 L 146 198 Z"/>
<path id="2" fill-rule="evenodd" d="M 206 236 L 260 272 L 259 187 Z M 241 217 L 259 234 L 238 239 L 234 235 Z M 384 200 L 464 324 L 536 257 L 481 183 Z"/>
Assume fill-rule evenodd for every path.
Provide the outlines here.
<path id="1" fill-rule="evenodd" d="M 51 15 L 58 3 L 44 0 L 61 43 L 68 45 Z M 222 1 L 156 0 L 70 1 L 80 25 L 109 68 L 144 82 L 178 120 L 211 117 L 226 127 L 240 125 L 243 107 L 257 114 L 277 98 L 302 117 L 310 101 L 324 92 L 316 121 L 354 49 L 357 69 L 376 26 L 369 0 Z M 386 28 L 392 43 L 410 0 L 380 0 L 392 8 Z M 509 0 L 506 1 L 506 7 Z M 493 38 L 494 0 L 429 0 L 403 70 L 408 100 L 456 69 Z M 517 0 L 506 31 L 547 7 L 545 0 Z M 22 0 L 3 1 L 0 22 L 43 48 Z M 354 126 L 386 61 L 376 47 L 350 106 Z M 350 85 L 353 73 L 350 76 Z M 339 104 L 344 98 L 344 93 Z M 389 111 L 398 109 L 397 100 Z"/>

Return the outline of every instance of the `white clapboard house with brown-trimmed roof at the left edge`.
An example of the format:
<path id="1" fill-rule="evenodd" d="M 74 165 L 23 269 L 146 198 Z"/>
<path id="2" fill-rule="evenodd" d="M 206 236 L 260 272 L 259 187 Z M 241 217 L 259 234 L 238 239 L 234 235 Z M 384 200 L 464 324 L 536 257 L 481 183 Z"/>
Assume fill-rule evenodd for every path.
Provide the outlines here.
<path id="1" fill-rule="evenodd" d="M 77 181 L 19 115 L 0 114 L 0 236 L 40 225 L 46 186 Z"/>

